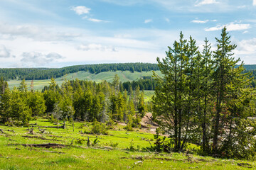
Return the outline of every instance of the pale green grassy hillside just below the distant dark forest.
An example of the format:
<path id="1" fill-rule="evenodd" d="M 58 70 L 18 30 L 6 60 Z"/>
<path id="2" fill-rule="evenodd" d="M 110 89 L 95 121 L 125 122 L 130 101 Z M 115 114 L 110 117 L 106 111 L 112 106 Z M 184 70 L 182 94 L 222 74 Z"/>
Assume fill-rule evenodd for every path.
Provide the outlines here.
<path id="1" fill-rule="evenodd" d="M 160 71 L 156 71 L 157 74 L 161 75 Z M 139 79 L 140 77 L 144 76 L 151 76 L 152 72 L 134 72 L 131 73 L 129 71 L 117 71 L 117 72 L 101 72 L 99 74 L 90 74 L 89 72 L 76 72 L 72 74 L 67 74 L 64 77 L 60 77 L 55 79 L 57 84 L 60 86 L 65 79 L 72 80 L 72 79 L 80 79 L 80 80 L 92 80 L 92 81 L 112 81 L 114 79 L 114 75 L 117 74 L 120 78 L 120 81 L 133 81 L 136 79 Z M 14 88 L 14 86 L 18 87 L 21 83 L 21 80 L 11 80 L 8 81 L 9 87 L 11 89 Z M 44 86 L 48 86 L 50 83 L 50 79 L 45 80 L 35 80 L 33 81 L 34 89 L 35 90 L 41 90 Z M 28 89 L 30 89 L 31 80 L 26 81 L 26 84 L 28 84 Z"/>

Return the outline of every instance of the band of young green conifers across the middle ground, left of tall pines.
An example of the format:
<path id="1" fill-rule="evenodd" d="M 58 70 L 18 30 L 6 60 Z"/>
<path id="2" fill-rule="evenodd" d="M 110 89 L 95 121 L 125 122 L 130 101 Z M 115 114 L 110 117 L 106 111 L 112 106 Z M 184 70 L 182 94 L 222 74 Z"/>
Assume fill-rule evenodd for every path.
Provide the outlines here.
<path id="1" fill-rule="evenodd" d="M 0 86 L 0 118 L 5 125 L 28 125 L 38 116 L 51 120 L 82 120 L 127 123 L 127 130 L 139 126 L 146 112 L 144 94 L 139 91 L 120 91 L 119 77 L 113 83 L 103 81 L 65 81 L 60 87 L 52 78 L 43 91 L 28 91 L 25 80 L 10 90 L 4 79 Z"/>

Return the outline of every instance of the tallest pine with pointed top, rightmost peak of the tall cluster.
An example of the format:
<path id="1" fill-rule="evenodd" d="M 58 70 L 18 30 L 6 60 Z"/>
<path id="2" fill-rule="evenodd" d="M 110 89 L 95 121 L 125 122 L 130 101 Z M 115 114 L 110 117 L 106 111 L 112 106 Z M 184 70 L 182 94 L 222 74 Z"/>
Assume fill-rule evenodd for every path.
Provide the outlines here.
<path id="1" fill-rule="evenodd" d="M 228 100 L 228 86 L 232 84 L 235 77 L 233 77 L 233 70 L 239 60 L 235 60 L 232 51 L 235 50 L 236 45 L 231 45 L 230 36 L 226 32 L 226 28 L 223 28 L 221 38 L 215 38 L 218 42 L 217 50 L 213 55 L 214 69 L 213 72 L 213 86 L 215 90 L 215 116 L 214 116 L 214 128 L 213 128 L 213 153 L 218 154 L 218 140 L 220 131 L 223 130 L 225 122 L 223 120 L 225 115 L 226 103 Z"/>

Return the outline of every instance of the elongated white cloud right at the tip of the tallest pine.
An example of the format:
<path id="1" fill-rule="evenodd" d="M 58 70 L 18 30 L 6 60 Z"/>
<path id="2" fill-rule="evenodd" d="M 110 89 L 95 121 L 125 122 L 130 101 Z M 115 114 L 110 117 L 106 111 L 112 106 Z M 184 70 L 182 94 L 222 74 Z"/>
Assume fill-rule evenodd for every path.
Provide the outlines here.
<path id="1" fill-rule="evenodd" d="M 221 30 L 224 27 L 227 28 L 228 31 L 230 30 L 247 30 L 250 28 L 250 24 L 245 24 L 245 23 L 228 23 L 226 25 L 218 25 L 215 27 L 211 28 L 205 28 L 206 31 L 213 31 L 213 30 Z"/>

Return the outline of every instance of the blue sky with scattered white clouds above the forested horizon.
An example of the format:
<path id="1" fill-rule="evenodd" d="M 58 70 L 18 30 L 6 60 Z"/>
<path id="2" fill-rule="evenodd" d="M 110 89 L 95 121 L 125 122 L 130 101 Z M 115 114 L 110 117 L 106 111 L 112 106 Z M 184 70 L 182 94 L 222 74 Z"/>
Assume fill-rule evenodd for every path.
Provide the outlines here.
<path id="1" fill-rule="evenodd" d="M 256 64 L 256 0 L 0 0 L 0 67 L 150 62 L 184 37 Z"/>

